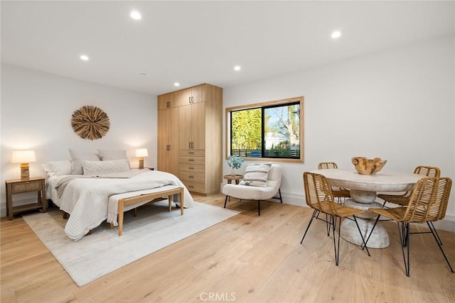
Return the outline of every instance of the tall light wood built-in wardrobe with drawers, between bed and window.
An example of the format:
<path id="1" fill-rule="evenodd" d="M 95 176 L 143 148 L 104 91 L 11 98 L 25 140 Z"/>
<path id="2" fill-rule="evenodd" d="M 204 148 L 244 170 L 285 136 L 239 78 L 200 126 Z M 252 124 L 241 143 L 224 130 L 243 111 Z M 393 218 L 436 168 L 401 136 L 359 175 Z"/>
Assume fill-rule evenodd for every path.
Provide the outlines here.
<path id="1" fill-rule="evenodd" d="M 178 172 L 172 173 L 190 192 L 220 192 L 223 182 L 223 89 L 210 84 L 181 89 L 159 96 L 158 107 L 159 148 L 166 149 L 166 144 L 161 143 L 170 135 L 168 129 L 164 129 L 166 127 L 173 128 L 173 140 L 178 144 L 178 154 L 173 153 L 172 160 L 163 158 L 161 163 L 159 153 L 159 170 L 171 172 L 175 167 L 170 162 L 177 163 Z M 178 122 L 166 126 L 164 120 Z"/>

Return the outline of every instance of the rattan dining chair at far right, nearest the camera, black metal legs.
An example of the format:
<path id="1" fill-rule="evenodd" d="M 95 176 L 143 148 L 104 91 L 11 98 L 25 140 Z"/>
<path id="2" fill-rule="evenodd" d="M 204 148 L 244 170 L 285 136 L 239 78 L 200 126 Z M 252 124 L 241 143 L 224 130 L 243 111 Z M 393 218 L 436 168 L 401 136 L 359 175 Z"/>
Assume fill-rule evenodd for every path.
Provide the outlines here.
<path id="1" fill-rule="evenodd" d="M 447 204 L 449 203 L 451 184 L 452 180 L 448 177 L 422 177 L 417 181 L 414 189 L 412 189 L 407 206 L 399 206 L 391 209 L 369 209 L 373 213 L 378 214 L 371 233 L 373 233 L 380 216 L 385 216 L 388 219 L 397 221 L 403 260 L 405 261 L 405 271 L 408 277 L 410 276 L 410 223 L 427 223 L 434 240 L 446 259 L 447 265 L 449 265 L 451 272 L 454 272 L 454 269 L 449 263 L 449 259 L 447 259 L 446 254 L 438 241 L 435 234 L 436 230 L 434 229 L 434 226 L 430 224 L 434 221 L 444 219 Z M 370 236 L 367 238 L 367 244 L 369 238 Z M 405 255 L 405 247 L 407 256 Z"/>

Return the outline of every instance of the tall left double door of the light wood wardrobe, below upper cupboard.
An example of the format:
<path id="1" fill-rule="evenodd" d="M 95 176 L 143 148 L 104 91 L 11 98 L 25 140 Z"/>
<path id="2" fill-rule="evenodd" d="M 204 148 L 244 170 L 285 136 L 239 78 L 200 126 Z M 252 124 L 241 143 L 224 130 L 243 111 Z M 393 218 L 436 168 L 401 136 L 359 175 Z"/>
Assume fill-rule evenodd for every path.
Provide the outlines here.
<path id="1" fill-rule="evenodd" d="M 178 176 L 178 111 L 158 111 L 158 170 Z"/>

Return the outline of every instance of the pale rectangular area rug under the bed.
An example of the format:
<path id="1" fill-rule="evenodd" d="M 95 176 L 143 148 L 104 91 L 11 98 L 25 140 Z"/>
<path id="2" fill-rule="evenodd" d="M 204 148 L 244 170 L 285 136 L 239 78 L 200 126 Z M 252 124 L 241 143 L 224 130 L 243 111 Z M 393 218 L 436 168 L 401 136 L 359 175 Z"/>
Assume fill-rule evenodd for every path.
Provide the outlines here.
<path id="1" fill-rule="evenodd" d="M 23 219 L 82 286 L 236 214 L 239 211 L 194 202 L 181 216 L 179 209 L 168 211 L 164 200 L 141 206 L 136 217 L 132 211 L 125 213 L 123 236 L 118 236 L 117 227 L 110 229 L 105 223 L 77 242 L 65 235 L 66 221 L 58 209 L 28 214 Z"/>

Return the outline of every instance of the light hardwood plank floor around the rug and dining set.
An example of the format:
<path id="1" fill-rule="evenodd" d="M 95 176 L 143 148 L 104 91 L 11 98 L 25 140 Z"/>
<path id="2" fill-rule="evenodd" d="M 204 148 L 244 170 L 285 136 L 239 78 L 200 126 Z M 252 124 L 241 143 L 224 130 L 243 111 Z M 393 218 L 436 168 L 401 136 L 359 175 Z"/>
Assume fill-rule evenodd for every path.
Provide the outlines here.
<path id="1" fill-rule="evenodd" d="M 222 194 L 195 199 L 224 203 Z M 322 221 L 300 244 L 311 209 L 262 202 L 257 216 L 255 202 L 228 208 L 242 213 L 83 287 L 23 219 L 3 218 L 1 302 L 455 302 L 455 273 L 431 234 L 412 235 L 406 277 L 395 223 L 384 223 L 390 247 L 371 257 L 341 240 L 336 266 Z M 439 235 L 455 265 L 454 233 Z"/>

